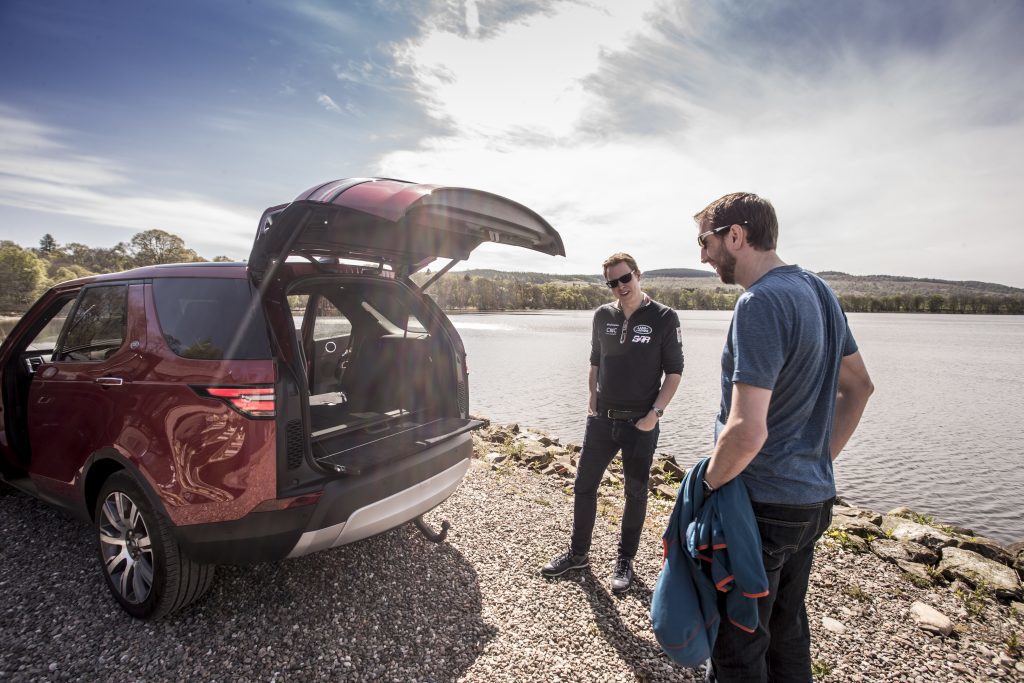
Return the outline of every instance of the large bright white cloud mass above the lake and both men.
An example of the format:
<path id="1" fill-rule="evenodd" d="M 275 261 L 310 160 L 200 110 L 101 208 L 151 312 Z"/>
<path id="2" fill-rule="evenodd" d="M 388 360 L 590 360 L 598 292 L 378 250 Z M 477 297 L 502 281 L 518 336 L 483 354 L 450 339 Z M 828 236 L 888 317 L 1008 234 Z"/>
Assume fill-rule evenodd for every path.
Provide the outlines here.
<path id="1" fill-rule="evenodd" d="M 745 189 L 773 200 L 780 254 L 807 267 L 1024 286 L 1008 219 L 1024 10 L 744 7 L 560 4 L 475 39 L 439 23 L 396 59 L 446 132 L 381 172 L 527 204 L 562 231 L 563 271 L 623 248 L 698 266 L 689 217 Z M 979 251 L 974 225 L 999 247 Z"/>

